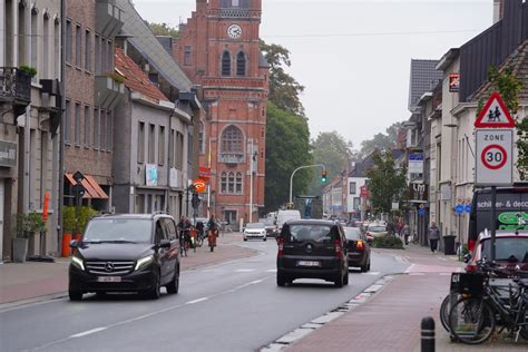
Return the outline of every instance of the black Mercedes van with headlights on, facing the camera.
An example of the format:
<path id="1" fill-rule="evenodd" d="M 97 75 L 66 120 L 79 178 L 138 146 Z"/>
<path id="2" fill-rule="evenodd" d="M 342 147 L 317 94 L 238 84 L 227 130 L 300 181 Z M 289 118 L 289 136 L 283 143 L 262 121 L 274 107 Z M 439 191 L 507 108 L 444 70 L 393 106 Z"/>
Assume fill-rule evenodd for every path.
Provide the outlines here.
<path id="1" fill-rule="evenodd" d="M 138 292 L 156 300 L 162 286 L 178 293 L 178 241 L 169 215 L 98 216 L 88 223 L 81 241 L 70 245 L 71 301 L 90 292 Z"/>

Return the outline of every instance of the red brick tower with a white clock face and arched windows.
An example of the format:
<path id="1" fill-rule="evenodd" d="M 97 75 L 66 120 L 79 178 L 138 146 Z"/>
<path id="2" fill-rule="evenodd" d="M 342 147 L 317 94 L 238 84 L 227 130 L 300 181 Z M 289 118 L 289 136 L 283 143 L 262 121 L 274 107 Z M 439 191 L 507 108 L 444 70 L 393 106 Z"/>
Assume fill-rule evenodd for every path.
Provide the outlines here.
<path id="1" fill-rule="evenodd" d="M 209 209 L 232 224 L 256 222 L 264 206 L 268 65 L 258 47 L 261 13 L 262 0 L 196 0 L 173 45 L 207 111 L 199 164 L 211 165 Z M 202 198 L 206 205 L 207 194 Z"/>

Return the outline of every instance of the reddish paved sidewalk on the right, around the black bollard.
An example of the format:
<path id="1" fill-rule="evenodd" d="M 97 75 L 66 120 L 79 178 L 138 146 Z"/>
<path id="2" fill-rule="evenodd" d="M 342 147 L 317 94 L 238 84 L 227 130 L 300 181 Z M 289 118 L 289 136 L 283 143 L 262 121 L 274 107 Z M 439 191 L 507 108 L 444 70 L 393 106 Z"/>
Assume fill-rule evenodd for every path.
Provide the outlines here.
<path id="1" fill-rule="evenodd" d="M 483 345 L 453 343 L 443 330 L 439 311 L 449 293 L 451 273 L 462 270 L 457 256 L 431 253 L 427 247 L 405 246 L 404 251 L 374 250 L 405 257 L 410 262 L 371 301 L 315 330 L 292 344 L 291 352 L 306 351 L 420 351 L 420 323 L 436 322 L 437 351 L 526 351 L 526 343 L 488 342 Z M 351 281 L 353 285 L 353 280 Z"/>

